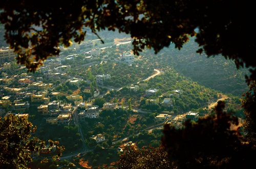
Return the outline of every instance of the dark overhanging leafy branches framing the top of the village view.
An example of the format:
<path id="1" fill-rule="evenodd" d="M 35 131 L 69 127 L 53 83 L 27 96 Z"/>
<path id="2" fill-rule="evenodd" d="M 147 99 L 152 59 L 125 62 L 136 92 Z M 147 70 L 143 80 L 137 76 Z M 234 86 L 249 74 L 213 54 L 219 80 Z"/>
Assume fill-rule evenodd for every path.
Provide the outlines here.
<path id="1" fill-rule="evenodd" d="M 198 53 L 232 59 L 237 68 L 249 67 L 256 79 L 256 34 L 247 22 L 253 20 L 253 7 L 240 1 L 23 0 L 4 1 L 0 9 L 6 42 L 29 71 L 58 55 L 60 45 L 80 43 L 88 31 L 117 30 L 134 38 L 136 55 L 145 47 L 158 53 L 171 43 L 180 50 L 196 36 Z"/>

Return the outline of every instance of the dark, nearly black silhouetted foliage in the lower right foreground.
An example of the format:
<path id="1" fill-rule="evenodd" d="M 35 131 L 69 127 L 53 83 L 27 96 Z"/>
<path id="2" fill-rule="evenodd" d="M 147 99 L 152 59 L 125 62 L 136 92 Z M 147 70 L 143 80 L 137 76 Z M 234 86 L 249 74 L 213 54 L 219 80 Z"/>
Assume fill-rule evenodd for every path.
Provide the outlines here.
<path id="1" fill-rule="evenodd" d="M 216 115 L 187 120 L 184 128 L 164 126 L 162 145 L 178 168 L 239 168 L 255 165 L 248 154 L 253 144 L 241 136 L 238 118 L 224 112 L 225 102 L 219 101 Z M 248 152 L 248 153 L 247 153 Z"/>

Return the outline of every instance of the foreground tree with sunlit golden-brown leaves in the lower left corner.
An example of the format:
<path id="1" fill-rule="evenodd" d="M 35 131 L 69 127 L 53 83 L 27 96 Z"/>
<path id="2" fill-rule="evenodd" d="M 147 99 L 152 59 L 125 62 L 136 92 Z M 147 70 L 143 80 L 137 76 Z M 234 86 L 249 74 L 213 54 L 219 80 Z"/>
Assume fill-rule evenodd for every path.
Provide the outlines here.
<path id="1" fill-rule="evenodd" d="M 44 141 L 31 138 L 35 130 L 36 127 L 25 117 L 10 114 L 0 118 L 0 168 L 28 168 L 27 163 L 32 161 L 30 154 L 45 147 Z M 49 143 L 52 147 L 58 141 L 50 140 Z"/>

